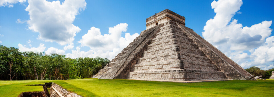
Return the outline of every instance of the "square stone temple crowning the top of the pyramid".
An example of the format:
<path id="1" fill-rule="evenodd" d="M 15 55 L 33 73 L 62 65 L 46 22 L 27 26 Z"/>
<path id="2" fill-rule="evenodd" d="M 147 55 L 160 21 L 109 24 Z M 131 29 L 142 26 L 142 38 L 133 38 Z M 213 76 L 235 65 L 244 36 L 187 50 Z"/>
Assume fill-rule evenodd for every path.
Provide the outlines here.
<path id="1" fill-rule="evenodd" d="M 182 25 L 186 25 L 186 18 L 184 16 L 178 15 L 177 13 L 166 9 L 160 13 L 150 16 L 149 18 L 146 18 L 146 29 L 167 22 L 168 20 L 174 20 Z"/>

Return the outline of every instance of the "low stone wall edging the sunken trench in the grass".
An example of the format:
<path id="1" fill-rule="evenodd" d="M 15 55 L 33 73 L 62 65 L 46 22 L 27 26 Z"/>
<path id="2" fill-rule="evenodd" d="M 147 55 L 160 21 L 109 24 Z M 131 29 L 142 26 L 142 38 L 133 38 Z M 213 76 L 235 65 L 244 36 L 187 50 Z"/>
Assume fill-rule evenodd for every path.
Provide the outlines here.
<path id="1" fill-rule="evenodd" d="M 74 92 L 70 92 L 67 89 L 64 89 L 54 82 L 51 85 L 50 95 L 50 97 L 82 97 Z"/>

